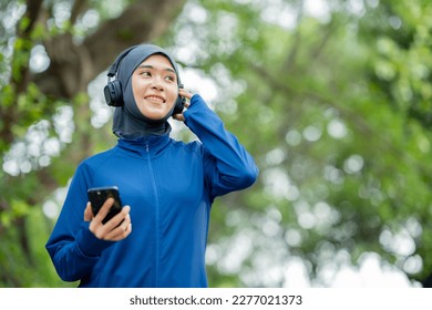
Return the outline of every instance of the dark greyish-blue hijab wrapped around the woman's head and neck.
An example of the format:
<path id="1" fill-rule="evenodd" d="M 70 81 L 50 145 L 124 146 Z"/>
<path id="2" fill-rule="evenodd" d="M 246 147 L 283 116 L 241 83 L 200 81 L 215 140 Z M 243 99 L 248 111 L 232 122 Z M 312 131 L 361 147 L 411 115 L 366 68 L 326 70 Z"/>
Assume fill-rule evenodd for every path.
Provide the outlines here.
<path id="1" fill-rule="evenodd" d="M 164 49 L 153 44 L 136 45 L 132 49 L 121 61 L 116 78 L 122 85 L 124 102 L 122 106 L 115 107 L 113 118 L 113 133 L 120 138 L 137 138 L 152 134 L 163 135 L 171 132 L 171 125 L 167 120 L 173 114 L 175 104 L 163 118 L 151 120 L 140 112 L 133 95 L 132 74 L 144 60 L 153 54 L 162 54 L 169 60 L 179 83 L 177 64 Z"/>

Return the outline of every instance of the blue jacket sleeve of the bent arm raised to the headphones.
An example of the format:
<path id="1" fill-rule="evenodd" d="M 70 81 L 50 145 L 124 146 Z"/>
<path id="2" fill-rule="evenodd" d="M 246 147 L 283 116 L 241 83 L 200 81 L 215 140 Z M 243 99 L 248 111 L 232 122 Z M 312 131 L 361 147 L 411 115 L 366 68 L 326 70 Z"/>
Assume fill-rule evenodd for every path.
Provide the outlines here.
<path id="1" fill-rule="evenodd" d="M 185 124 L 203 143 L 212 199 L 255 183 L 258 167 L 254 158 L 199 95 L 192 97 L 184 116 Z"/>

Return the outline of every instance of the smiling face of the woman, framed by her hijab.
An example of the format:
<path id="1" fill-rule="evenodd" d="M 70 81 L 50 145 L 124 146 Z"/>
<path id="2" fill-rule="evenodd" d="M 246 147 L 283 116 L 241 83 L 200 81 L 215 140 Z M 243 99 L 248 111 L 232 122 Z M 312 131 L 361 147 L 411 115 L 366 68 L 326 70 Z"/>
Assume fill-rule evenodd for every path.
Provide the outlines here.
<path id="1" fill-rule="evenodd" d="M 132 91 L 144 116 L 164 118 L 178 96 L 177 75 L 169 60 L 162 54 L 144 60 L 132 74 Z"/>

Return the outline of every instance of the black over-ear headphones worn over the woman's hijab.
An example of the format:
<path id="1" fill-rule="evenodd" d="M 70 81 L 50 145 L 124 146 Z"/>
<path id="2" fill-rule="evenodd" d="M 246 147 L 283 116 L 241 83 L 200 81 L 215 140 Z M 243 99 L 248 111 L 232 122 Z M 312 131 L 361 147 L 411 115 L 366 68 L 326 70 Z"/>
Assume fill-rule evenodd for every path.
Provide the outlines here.
<path id="1" fill-rule="evenodd" d="M 122 83 L 120 83 L 120 81 L 117 79 L 115 79 L 114 81 L 111 81 L 111 79 L 117 75 L 117 71 L 119 71 L 120 64 L 122 63 L 123 59 L 136 46 L 138 46 L 138 45 L 134 45 L 134 46 L 128 48 L 127 50 L 123 51 L 117 56 L 117 59 L 114 61 L 109 73 L 106 74 L 107 75 L 107 83 L 106 83 L 105 87 L 103 89 L 103 93 L 105 95 L 105 102 L 110 106 L 124 105 L 123 93 L 122 93 Z M 179 81 L 178 73 L 177 73 L 177 80 L 178 80 L 178 87 L 183 89 L 183 84 Z M 185 103 L 186 103 L 186 99 L 178 95 L 177 100 L 175 101 L 173 115 L 181 114 L 183 112 Z"/>

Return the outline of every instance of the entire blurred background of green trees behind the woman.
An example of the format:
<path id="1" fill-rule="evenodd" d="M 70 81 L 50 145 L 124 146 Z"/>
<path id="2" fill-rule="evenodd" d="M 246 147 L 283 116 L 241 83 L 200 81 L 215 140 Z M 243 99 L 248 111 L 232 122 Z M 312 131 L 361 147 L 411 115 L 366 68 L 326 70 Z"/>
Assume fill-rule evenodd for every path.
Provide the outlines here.
<path id="1" fill-rule="evenodd" d="M 430 0 L 1 0 L 0 23 L 0 287 L 76 286 L 44 245 L 142 42 L 260 169 L 214 204 L 210 287 L 431 286 Z"/>

